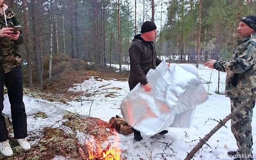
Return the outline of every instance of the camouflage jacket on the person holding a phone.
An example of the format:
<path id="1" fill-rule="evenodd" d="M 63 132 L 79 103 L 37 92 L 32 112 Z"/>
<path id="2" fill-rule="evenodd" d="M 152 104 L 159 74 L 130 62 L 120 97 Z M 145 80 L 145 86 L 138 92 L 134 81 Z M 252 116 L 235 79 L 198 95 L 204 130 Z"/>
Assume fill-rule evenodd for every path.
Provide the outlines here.
<path id="1" fill-rule="evenodd" d="M 10 8 L 5 10 L 6 21 L 8 27 L 19 26 L 18 19 Z M 6 27 L 4 16 L 0 17 L 1 29 Z M 0 68 L 4 69 L 4 72 L 10 72 L 16 66 L 22 63 L 21 53 L 18 50 L 18 45 L 25 42 L 24 35 L 20 31 L 20 36 L 17 40 L 11 40 L 7 37 L 0 38 Z"/>

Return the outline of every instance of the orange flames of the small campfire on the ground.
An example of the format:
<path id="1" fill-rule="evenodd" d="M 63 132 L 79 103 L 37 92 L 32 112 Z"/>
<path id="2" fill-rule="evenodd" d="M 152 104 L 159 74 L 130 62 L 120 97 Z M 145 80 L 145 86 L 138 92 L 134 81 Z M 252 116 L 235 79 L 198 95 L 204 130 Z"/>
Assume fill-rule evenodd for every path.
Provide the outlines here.
<path id="1" fill-rule="evenodd" d="M 113 146 L 109 143 L 108 146 L 103 149 L 98 142 L 96 147 L 94 147 L 93 142 L 87 142 L 87 146 L 89 147 L 88 160 L 121 160 L 118 134 L 116 134 Z"/>

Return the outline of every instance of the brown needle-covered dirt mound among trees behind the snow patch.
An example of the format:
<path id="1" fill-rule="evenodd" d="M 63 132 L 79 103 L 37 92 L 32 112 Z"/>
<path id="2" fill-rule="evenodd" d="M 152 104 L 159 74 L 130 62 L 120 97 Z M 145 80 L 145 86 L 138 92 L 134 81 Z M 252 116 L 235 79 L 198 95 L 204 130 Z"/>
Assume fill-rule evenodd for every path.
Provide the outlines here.
<path id="1" fill-rule="evenodd" d="M 70 58 L 65 54 L 52 56 L 52 78 L 49 79 L 49 59 L 50 55 L 43 57 L 43 90 L 44 94 L 52 94 L 50 96 L 42 95 L 41 98 L 50 101 L 66 102 L 66 100 L 73 100 L 74 97 L 79 96 L 80 92 L 68 92 L 68 89 L 73 84 L 78 84 L 84 80 L 88 80 L 91 76 L 101 78 L 104 80 L 122 80 L 126 81 L 129 72 L 116 72 L 114 68 L 95 68 L 83 60 Z M 39 90 L 39 84 L 36 77 L 36 64 L 32 65 L 32 81 L 33 89 Z M 24 86 L 28 86 L 28 68 L 23 67 Z M 29 89 L 31 90 L 31 89 Z M 58 100 L 62 99 L 62 100 Z"/>

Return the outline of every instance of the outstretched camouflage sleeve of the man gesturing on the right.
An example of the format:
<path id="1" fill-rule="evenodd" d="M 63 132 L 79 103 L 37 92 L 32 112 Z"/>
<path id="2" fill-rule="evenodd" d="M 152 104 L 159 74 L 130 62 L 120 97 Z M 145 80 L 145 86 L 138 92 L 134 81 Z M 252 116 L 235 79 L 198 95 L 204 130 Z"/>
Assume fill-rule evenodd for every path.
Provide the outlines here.
<path id="1" fill-rule="evenodd" d="M 249 44 L 246 50 L 238 55 L 236 60 L 232 61 L 216 61 L 214 68 L 221 72 L 227 73 L 242 73 L 255 64 L 256 48 L 254 45 Z"/>

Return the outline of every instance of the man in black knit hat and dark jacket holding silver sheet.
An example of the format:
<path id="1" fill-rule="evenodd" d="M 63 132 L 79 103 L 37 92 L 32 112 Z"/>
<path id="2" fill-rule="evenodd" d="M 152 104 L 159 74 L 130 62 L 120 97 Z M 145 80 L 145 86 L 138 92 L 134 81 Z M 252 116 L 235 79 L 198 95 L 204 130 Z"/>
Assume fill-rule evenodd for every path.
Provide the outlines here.
<path id="1" fill-rule="evenodd" d="M 156 38 L 156 24 L 152 21 L 146 21 L 142 24 L 141 34 L 134 36 L 129 49 L 130 56 L 130 77 L 128 80 L 130 91 L 138 84 L 142 84 L 146 92 L 151 91 L 151 86 L 147 82 L 146 74 L 150 69 L 156 69 L 162 60 L 156 57 L 156 49 L 153 40 Z M 167 63 L 169 66 L 170 64 Z M 134 139 L 142 140 L 140 132 L 132 128 Z M 167 130 L 163 130 L 159 134 L 166 134 Z"/>

